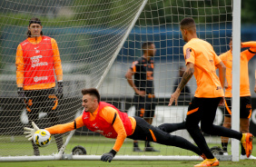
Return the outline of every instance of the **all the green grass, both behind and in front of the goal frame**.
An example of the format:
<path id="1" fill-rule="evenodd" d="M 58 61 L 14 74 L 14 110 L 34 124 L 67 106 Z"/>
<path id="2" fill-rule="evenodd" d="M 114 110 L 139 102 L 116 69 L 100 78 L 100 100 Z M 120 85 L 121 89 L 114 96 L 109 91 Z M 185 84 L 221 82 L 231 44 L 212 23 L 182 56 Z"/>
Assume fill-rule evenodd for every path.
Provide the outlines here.
<path id="1" fill-rule="evenodd" d="M 24 141 L 22 144 L 20 141 L 23 141 L 24 136 L 15 136 L 14 142 L 0 143 L 0 153 L 3 156 L 5 152 L 6 155 L 15 155 L 16 148 L 20 145 L 23 145 L 26 149 L 23 151 L 25 154 L 32 155 L 31 143 Z M 219 138 L 217 138 L 219 139 Z M 219 142 L 217 142 L 219 143 Z M 109 152 L 114 144 L 114 140 L 106 139 L 103 136 L 74 136 L 72 141 L 67 145 L 65 152 L 67 154 L 71 153 L 71 150 L 76 145 L 83 145 L 88 154 L 101 155 L 104 152 Z M 209 144 L 209 147 L 220 145 L 220 144 Z M 231 145 L 231 144 L 230 144 Z M 140 142 L 140 146 L 143 149 L 143 142 Z M 127 139 L 123 143 L 123 147 L 118 152 L 119 155 L 122 154 L 131 154 L 131 155 L 195 155 L 193 152 L 182 150 L 175 147 L 166 147 L 161 144 L 153 144 L 155 149 L 160 150 L 161 152 L 132 152 L 133 150 L 133 141 Z M 254 148 L 256 148 L 256 141 L 253 142 Z M 47 154 L 48 149 L 56 150 L 55 143 L 51 143 L 45 148 L 40 148 L 41 154 Z M 48 153 L 49 154 L 49 153 Z M 231 153 L 230 153 L 231 154 Z M 253 150 L 252 154 L 256 155 L 256 150 Z M 36 166 L 36 167 L 77 167 L 77 166 L 86 166 L 86 167 L 104 167 L 104 166 L 116 166 L 116 167 L 159 167 L 159 166 L 172 166 L 172 167 L 186 167 L 193 166 L 200 161 L 191 162 L 191 161 L 114 161 L 101 162 L 101 161 L 72 161 L 72 160 L 62 160 L 62 161 L 40 161 L 40 162 L 0 162 L 0 167 L 27 167 L 27 166 Z M 256 160 L 243 160 L 240 162 L 221 162 L 220 166 L 242 166 L 242 167 L 252 167 L 256 166 Z"/>

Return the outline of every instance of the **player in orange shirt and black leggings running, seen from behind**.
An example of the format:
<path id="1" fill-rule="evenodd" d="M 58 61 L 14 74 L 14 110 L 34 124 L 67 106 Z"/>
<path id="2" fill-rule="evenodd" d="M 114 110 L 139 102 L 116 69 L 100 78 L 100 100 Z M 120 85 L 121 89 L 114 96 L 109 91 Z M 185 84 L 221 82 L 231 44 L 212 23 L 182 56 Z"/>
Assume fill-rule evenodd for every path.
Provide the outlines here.
<path id="1" fill-rule="evenodd" d="M 201 130 L 204 133 L 228 136 L 240 140 L 247 157 L 249 157 L 252 151 L 251 133 L 239 133 L 213 124 L 218 104 L 223 105 L 224 93 L 222 87 L 225 81 L 225 65 L 213 51 L 212 45 L 197 37 L 196 25 L 192 18 L 182 19 L 180 25 L 183 40 L 187 42 L 183 46 L 187 68 L 182 76 L 181 83 L 176 91 L 172 93 L 169 106 L 172 105 L 173 101 L 177 105 L 182 89 L 194 74 L 198 87 L 192 103 L 189 104 L 186 129 L 207 158 L 195 166 L 219 166 L 219 161 L 210 151 Z M 219 68 L 221 81 L 215 72 L 215 67 Z M 201 130 L 198 126 L 200 122 Z"/>

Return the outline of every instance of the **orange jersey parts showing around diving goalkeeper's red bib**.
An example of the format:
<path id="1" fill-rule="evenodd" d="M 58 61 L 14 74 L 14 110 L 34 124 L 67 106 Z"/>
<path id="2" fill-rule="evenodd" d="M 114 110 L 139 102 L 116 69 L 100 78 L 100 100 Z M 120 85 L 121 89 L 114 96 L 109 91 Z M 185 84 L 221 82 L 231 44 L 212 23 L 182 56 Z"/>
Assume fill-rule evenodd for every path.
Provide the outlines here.
<path id="1" fill-rule="evenodd" d="M 94 113 L 90 113 L 90 118 L 89 118 L 90 121 L 93 121 L 96 118 L 97 111 L 98 111 L 98 109 L 96 109 Z M 117 113 L 117 116 L 116 116 L 115 122 L 113 123 L 114 113 Z M 110 106 L 104 107 L 102 109 L 102 112 L 100 113 L 100 116 L 103 117 L 103 119 L 106 122 L 113 123 L 113 129 L 118 134 L 116 141 L 113 145 L 113 150 L 118 152 L 120 150 L 120 148 L 122 147 L 123 142 L 126 138 L 126 133 L 125 133 L 125 129 L 123 127 L 123 122 L 122 122 L 118 112 Z M 129 119 L 132 123 L 132 130 L 134 132 L 135 126 L 136 126 L 136 121 L 133 117 L 129 117 Z M 82 115 L 75 119 L 75 123 L 76 123 L 76 129 L 84 126 Z M 74 122 L 65 123 L 65 124 L 57 124 L 50 128 L 45 128 L 45 130 L 47 130 L 51 134 L 66 133 L 66 132 L 74 130 Z"/>

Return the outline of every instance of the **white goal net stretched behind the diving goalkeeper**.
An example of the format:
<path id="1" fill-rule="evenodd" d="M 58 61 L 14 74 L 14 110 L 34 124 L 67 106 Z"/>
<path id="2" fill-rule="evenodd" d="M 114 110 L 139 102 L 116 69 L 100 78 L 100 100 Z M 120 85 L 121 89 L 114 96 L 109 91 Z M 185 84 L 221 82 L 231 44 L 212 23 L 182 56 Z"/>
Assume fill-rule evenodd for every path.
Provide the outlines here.
<path id="1" fill-rule="evenodd" d="M 181 79 L 179 73 L 185 66 L 180 21 L 192 17 L 197 24 L 198 36 L 212 44 L 216 54 L 229 49 L 231 0 L 13 0 L 0 1 L 0 4 L 0 161 L 6 161 L 10 156 L 34 155 L 31 142 L 23 134 L 23 128 L 29 124 L 25 104 L 17 95 L 15 67 L 16 48 L 25 41 L 28 21 L 32 17 L 40 18 L 44 35 L 54 38 L 59 47 L 64 73 L 64 97 L 59 100 L 56 110 L 60 123 L 71 122 L 83 113 L 81 90 L 90 87 L 99 89 L 102 101 L 113 103 L 120 111 L 133 116 L 134 92 L 124 75 L 143 55 L 144 42 L 153 42 L 157 49 L 153 57 L 157 99 L 153 125 L 181 123 L 196 83 L 192 78 L 188 83 L 190 92 L 180 97 L 178 106 L 167 106 L 175 81 Z M 38 114 L 40 128 L 48 126 L 48 114 L 44 111 Z M 222 109 L 218 109 L 214 123 L 222 124 L 222 119 Z M 172 134 L 192 142 L 185 130 Z M 212 146 L 221 145 L 220 137 L 205 136 Z M 96 158 L 109 152 L 115 142 L 85 127 L 64 133 L 63 140 L 64 150 L 60 154 L 63 151 L 71 154 L 75 146 L 81 145 L 87 155 L 96 155 Z M 171 146 L 152 145 L 160 152 L 133 152 L 133 141 L 126 139 L 117 157 L 194 155 Z M 143 150 L 144 142 L 139 142 L 139 146 Z M 39 150 L 41 156 L 36 160 L 58 153 L 54 138 L 50 145 Z"/>

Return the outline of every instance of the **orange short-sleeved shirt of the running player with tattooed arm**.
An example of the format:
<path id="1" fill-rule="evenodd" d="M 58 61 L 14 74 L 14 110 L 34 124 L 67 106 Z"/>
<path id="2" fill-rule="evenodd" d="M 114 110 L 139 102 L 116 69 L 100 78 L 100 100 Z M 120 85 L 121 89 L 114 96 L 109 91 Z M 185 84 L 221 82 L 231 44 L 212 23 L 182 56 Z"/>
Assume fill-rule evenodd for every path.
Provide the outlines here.
<path id="1" fill-rule="evenodd" d="M 186 64 L 194 64 L 197 89 L 194 96 L 215 98 L 224 96 L 222 84 L 215 72 L 215 65 L 222 60 L 215 54 L 212 45 L 199 38 L 192 38 L 183 46 Z"/>

